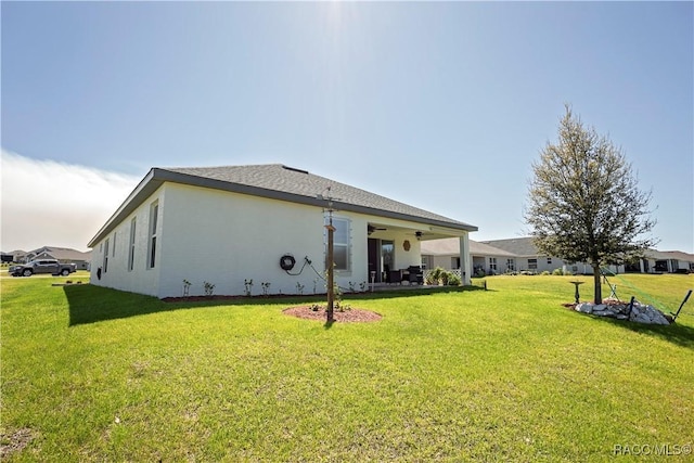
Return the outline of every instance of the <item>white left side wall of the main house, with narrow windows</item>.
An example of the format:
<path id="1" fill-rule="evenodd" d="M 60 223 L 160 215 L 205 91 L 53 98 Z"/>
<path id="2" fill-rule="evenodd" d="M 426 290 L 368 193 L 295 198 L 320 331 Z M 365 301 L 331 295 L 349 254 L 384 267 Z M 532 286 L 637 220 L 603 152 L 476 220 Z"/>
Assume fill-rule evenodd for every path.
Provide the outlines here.
<path id="1" fill-rule="evenodd" d="M 150 206 L 158 201 L 159 217 L 157 220 L 157 240 L 162 242 L 163 224 L 162 216 L 165 210 L 165 189 L 158 189 L 126 220 L 120 222 L 116 229 L 97 244 L 92 250 L 90 282 L 98 286 L 113 287 L 115 290 L 129 291 L 132 293 L 158 295 L 158 282 L 160 263 L 160 246 L 157 252 L 155 267 L 147 268 L 147 248 L 150 230 Z M 128 269 L 130 227 L 132 218 L 136 218 L 136 248 L 133 253 L 132 270 Z M 108 269 L 103 271 L 104 245 L 108 240 Z M 114 248 L 115 240 L 115 248 Z M 98 271 L 102 269 L 101 279 Z"/>

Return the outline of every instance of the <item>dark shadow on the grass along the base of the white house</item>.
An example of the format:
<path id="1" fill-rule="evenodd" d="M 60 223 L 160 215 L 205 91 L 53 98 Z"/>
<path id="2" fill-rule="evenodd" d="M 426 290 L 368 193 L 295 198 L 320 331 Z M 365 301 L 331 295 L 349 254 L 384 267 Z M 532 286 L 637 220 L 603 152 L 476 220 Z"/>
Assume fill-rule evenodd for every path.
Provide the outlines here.
<path id="1" fill-rule="evenodd" d="M 297 306 L 325 300 L 325 295 L 309 296 L 255 296 L 255 297 L 220 297 L 202 300 L 164 301 L 153 296 L 127 293 L 91 284 L 67 285 L 63 287 L 69 307 L 69 325 L 95 323 L 105 320 L 117 320 L 149 313 L 185 310 L 198 307 L 215 306 L 265 306 L 287 305 Z M 440 293 L 464 293 L 468 291 L 484 291 L 480 287 L 441 287 L 410 291 L 374 292 L 347 294 L 344 300 L 388 299 L 397 297 L 413 297 Z M 330 329 L 329 325 L 325 325 Z"/>

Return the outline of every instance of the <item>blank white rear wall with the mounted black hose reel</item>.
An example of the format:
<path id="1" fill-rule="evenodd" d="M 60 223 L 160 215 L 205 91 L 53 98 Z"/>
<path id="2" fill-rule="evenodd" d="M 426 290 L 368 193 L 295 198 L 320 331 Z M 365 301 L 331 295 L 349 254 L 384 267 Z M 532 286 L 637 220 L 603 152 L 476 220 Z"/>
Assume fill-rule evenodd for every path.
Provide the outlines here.
<path id="1" fill-rule="evenodd" d="M 215 285 L 214 294 L 243 295 L 244 280 L 253 280 L 253 295 L 262 294 L 262 282 L 270 283 L 269 294 L 297 294 L 297 283 L 311 294 L 317 279 L 317 292 L 325 292 L 308 265 L 299 275 L 280 268 L 280 258 L 291 254 L 291 273 L 299 272 L 304 257 L 323 272 L 321 209 L 174 183 L 166 190 L 159 297 L 181 296 L 183 280 L 192 283 L 190 295 L 203 295 L 205 282 Z"/>

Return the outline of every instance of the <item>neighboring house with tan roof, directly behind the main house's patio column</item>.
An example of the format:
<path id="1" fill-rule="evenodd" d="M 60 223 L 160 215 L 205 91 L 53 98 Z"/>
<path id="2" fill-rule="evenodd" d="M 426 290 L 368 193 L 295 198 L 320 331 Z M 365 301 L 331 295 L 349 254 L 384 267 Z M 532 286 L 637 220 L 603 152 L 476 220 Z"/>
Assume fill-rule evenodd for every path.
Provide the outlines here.
<path id="1" fill-rule="evenodd" d="M 504 273 L 516 270 L 517 256 L 503 249 L 470 240 L 470 255 L 473 274 Z M 460 269 L 460 245 L 455 239 L 422 242 L 422 262 L 427 269 L 441 267 L 446 270 Z"/>

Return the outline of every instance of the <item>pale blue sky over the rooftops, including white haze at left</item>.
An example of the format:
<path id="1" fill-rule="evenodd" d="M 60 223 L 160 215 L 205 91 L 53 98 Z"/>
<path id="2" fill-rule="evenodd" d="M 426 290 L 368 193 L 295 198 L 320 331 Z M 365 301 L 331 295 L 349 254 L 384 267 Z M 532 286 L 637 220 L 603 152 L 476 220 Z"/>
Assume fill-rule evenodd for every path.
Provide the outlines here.
<path id="1" fill-rule="evenodd" d="M 569 103 L 653 190 L 658 248 L 694 253 L 692 2 L 0 8 L 3 250 L 85 249 L 151 167 L 265 163 L 526 235 Z M 69 196 L 10 190 L 37 170 Z M 48 214 L 79 231 L 18 227 Z"/>

